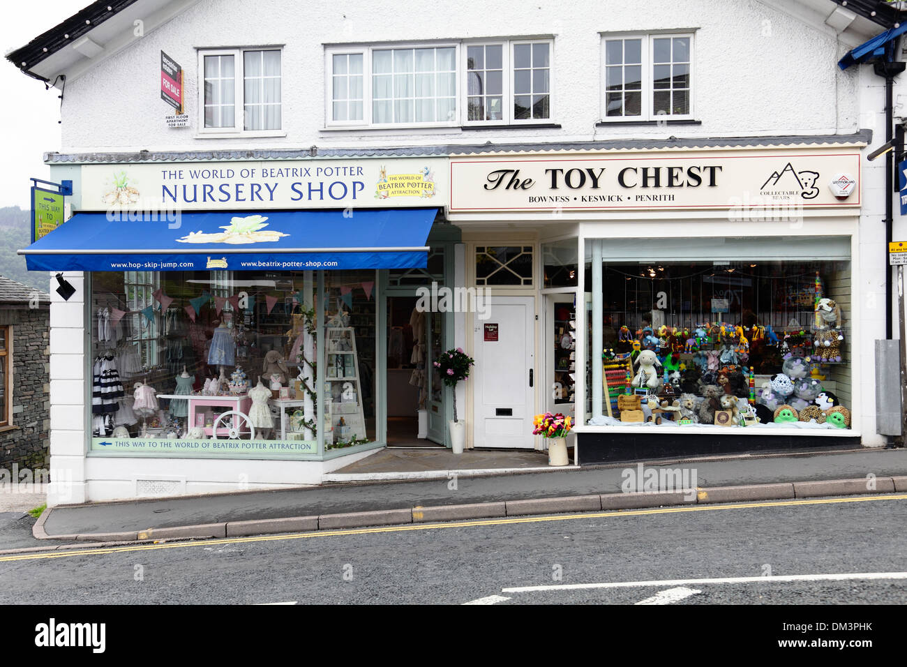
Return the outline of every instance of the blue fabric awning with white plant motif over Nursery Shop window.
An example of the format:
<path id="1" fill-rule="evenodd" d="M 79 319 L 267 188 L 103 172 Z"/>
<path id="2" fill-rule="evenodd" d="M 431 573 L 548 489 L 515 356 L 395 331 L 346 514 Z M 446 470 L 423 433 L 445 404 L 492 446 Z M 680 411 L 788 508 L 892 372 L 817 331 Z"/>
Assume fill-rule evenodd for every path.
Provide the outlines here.
<path id="1" fill-rule="evenodd" d="M 414 269 L 427 263 L 436 214 L 228 211 L 167 220 L 149 211 L 77 213 L 19 254 L 28 270 L 52 271 Z"/>

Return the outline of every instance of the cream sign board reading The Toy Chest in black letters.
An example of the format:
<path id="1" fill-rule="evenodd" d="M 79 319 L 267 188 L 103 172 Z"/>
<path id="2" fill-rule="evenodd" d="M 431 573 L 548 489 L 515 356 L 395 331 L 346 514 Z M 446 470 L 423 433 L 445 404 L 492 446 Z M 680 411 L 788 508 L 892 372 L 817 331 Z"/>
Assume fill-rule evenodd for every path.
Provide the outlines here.
<path id="1" fill-rule="evenodd" d="M 819 186 L 841 181 L 842 173 L 853 196 Z M 450 210 L 853 207 L 860 205 L 859 174 L 859 152 L 453 159 Z"/>

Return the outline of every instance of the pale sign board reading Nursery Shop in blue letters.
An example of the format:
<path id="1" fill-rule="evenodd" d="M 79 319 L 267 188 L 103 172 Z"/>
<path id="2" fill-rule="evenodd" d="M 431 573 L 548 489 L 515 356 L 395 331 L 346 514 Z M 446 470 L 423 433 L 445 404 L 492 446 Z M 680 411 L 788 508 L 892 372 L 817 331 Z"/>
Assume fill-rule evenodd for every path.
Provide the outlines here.
<path id="1" fill-rule="evenodd" d="M 83 164 L 80 211 L 443 206 L 444 158 Z"/>

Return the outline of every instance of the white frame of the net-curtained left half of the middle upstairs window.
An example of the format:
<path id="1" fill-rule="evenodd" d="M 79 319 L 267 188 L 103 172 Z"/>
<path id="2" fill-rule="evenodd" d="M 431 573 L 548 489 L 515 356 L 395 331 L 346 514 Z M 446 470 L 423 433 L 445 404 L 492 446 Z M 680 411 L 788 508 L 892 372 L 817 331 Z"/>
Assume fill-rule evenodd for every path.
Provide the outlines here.
<path id="1" fill-rule="evenodd" d="M 460 115 L 462 110 L 460 102 L 460 91 L 454 95 L 456 100 L 456 113 L 453 114 L 451 121 L 430 122 L 430 123 L 373 123 L 372 93 L 374 84 L 372 83 L 372 52 L 388 51 L 395 49 L 443 49 L 453 48 L 453 63 L 457 66 L 460 63 L 460 43 L 458 42 L 431 42 L 428 44 L 408 43 L 408 44 L 359 44 L 356 46 L 329 46 L 325 49 L 325 128 L 342 129 L 342 128 L 375 128 L 382 130 L 399 130 L 405 128 L 419 127 L 459 127 Z M 340 54 L 362 54 L 362 120 L 361 121 L 335 121 L 334 120 L 334 56 Z M 463 81 L 460 72 L 455 73 L 454 79 L 458 87 L 462 87 Z"/>

